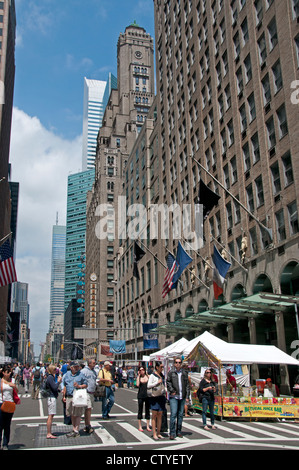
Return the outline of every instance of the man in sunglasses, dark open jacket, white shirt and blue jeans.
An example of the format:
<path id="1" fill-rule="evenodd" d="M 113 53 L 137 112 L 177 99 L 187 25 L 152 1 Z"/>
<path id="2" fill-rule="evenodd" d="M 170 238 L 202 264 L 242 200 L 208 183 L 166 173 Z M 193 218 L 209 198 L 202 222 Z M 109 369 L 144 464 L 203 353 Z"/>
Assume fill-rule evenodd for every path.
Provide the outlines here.
<path id="1" fill-rule="evenodd" d="M 183 437 L 182 424 L 185 403 L 189 403 L 190 383 L 188 372 L 182 369 L 182 359 L 176 357 L 174 368 L 167 375 L 167 391 L 170 405 L 170 439 Z"/>

